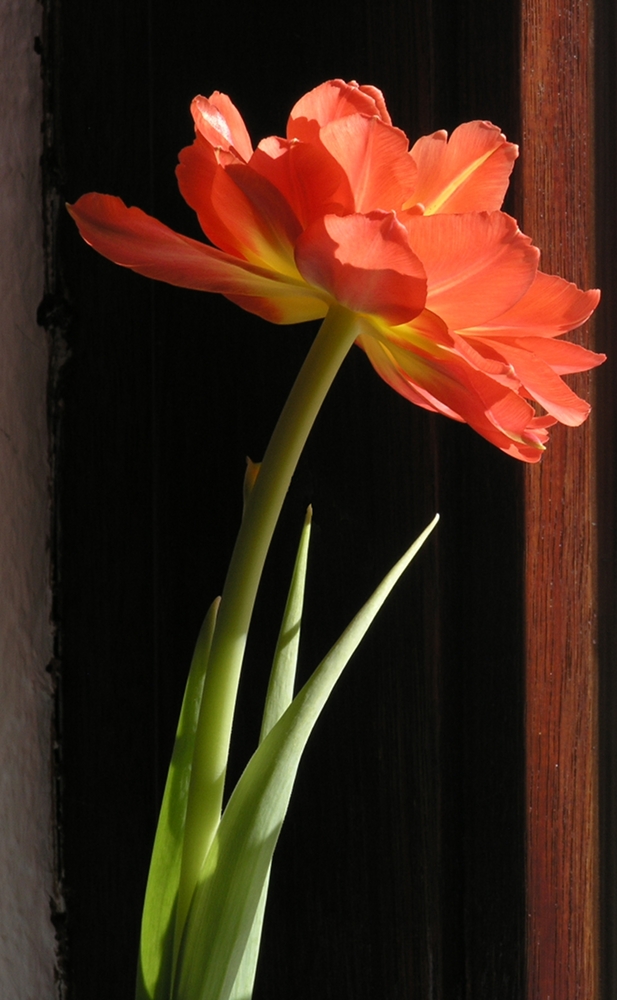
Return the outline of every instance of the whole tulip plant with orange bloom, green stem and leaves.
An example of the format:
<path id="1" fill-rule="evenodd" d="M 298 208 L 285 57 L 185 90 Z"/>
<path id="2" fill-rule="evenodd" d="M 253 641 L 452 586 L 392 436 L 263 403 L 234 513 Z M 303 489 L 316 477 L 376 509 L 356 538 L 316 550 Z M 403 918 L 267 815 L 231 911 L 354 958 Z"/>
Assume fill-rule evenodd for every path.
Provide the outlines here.
<path id="1" fill-rule="evenodd" d="M 220 293 L 274 323 L 323 323 L 263 461 L 250 466 L 220 605 L 198 641 L 150 870 L 138 1000 L 250 997 L 269 866 L 300 755 L 343 667 L 436 523 L 295 698 L 295 653 L 277 652 L 262 743 L 222 813 L 262 567 L 347 352 L 357 344 L 411 402 L 468 423 L 525 462 L 540 459 L 549 427 L 576 426 L 589 413 L 561 375 L 604 360 L 558 339 L 588 319 L 599 292 L 538 270 L 539 251 L 501 211 L 517 148 L 494 125 L 468 122 L 449 139 L 435 132 L 409 149 L 382 94 L 341 80 L 301 98 L 286 137 L 255 149 L 226 95 L 196 97 L 191 110 L 195 141 L 180 153 L 177 178 L 209 242 L 103 194 L 69 206 L 82 236 L 146 277 Z M 282 634 L 299 629 L 293 609 L 303 572 Z"/>

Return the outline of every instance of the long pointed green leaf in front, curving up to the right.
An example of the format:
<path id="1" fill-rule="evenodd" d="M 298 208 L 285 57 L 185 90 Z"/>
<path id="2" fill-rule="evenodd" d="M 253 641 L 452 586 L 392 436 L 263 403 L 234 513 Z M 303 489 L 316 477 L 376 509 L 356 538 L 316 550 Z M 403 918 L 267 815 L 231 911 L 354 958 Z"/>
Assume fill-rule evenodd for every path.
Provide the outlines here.
<path id="1" fill-rule="evenodd" d="M 229 1000 L 313 726 L 386 597 L 437 520 L 377 587 L 249 761 L 193 895 L 174 1000 Z"/>

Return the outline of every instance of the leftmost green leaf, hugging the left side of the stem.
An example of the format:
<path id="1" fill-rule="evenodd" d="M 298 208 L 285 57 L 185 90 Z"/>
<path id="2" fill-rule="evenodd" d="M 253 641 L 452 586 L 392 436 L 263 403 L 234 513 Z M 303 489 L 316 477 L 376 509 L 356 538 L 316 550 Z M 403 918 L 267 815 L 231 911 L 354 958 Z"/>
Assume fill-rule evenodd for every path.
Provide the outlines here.
<path id="1" fill-rule="evenodd" d="M 218 605 L 217 598 L 199 632 L 182 701 L 148 874 L 141 922 L 136 1000 L 169 1000 L 171 995 L 176 899 L 186 802 L 195 730 Z"/>

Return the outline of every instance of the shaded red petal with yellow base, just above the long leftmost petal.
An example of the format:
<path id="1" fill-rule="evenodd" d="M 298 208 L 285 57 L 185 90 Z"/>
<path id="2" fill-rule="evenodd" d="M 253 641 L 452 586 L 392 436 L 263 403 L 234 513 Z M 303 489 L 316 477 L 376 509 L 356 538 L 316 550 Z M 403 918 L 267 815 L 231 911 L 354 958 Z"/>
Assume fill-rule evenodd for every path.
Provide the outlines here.
<path id="1" fill-rule="evenodd" d="M 293 277 L 293 245 L 300 223 L 274 185 L 245 163 L 221 166 L 198 135 L 180 153 L 176 176 L 182 197 L 197 212 L 209 240 L 221 250 Z"/>

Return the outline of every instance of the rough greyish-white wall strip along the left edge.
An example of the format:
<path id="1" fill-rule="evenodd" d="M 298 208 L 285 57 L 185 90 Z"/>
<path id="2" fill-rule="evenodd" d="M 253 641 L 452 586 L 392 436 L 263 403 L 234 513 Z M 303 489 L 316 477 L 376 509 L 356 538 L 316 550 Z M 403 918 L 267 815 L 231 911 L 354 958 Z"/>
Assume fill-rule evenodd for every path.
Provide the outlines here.
<path id="1" fill-rule="evenodd" d="M 36 0 L 0 0 L 0 997 L 51 1000 L 51 657 Z"/>

